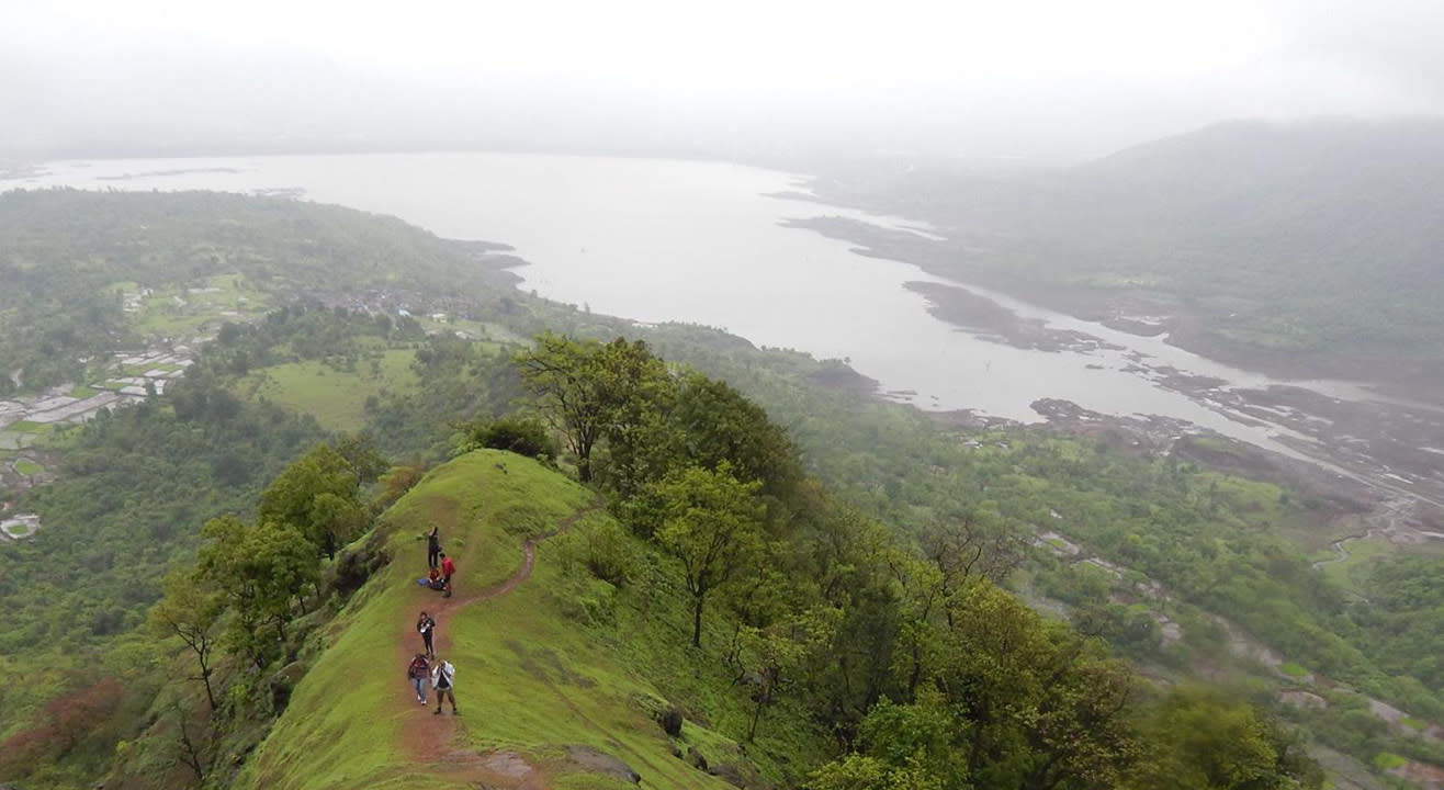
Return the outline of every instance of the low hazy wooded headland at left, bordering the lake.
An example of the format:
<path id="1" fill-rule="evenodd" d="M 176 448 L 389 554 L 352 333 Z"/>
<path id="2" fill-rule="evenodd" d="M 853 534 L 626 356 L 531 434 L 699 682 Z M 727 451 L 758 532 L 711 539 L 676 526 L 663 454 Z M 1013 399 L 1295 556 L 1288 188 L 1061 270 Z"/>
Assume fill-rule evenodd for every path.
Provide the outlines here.
<path id="1" fill-rule="evenodd" d="M 147 338 L 214 334 L 230 311 L 256 319 L 302 296 L 386 293 L 407 298 L 498 298 L 507 285 L 475 253 L 400 220 L 339 207 L 218 192 L 113 195 L 75 189 L 0 194 L 0 371 L 29 387 L 84 377 L 81 360 Z M 397 261 L 406 261 L 399 267 Z M 224 287 L 221 287 L 224 286 Z M 136 316 L 126 295 L 152 289 Z M 178 319 L 180 305 L 212 298 L 209 321 Z M 16 387 L 0 376 L 0 396 Z"/>

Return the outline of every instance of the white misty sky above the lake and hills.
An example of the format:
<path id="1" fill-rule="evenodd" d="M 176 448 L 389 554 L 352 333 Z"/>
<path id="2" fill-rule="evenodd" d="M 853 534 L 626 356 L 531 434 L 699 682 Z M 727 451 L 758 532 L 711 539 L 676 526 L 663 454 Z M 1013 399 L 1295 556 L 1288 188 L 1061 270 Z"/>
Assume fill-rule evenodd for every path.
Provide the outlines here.
<path id="1" fill-rule="evenodd" d="M 1438 114 L 1440 30 L 1435 0 L 0 0 L 0 157 L 1076 160 L 1227 118 Z"/>

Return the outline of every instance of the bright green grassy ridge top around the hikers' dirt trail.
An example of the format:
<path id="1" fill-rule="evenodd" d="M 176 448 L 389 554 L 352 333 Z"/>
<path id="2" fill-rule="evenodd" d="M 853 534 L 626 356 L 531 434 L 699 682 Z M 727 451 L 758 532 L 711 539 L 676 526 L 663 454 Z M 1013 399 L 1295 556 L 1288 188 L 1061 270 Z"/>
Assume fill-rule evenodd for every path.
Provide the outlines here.
<path id="1" fill-rule="evenodd" d="M 459 569 L 452 601 L 464 602 L 520 569 L 527 537 L 585 516 L 592 504 L 576 482 L 497 451 L 427 475 L 384 517 L 391 565 L 342 612 L 335 643 L 235 787 L 475 787 L 500 776 L 498 763 L 485 761 L 495 752 L 518 755 L 546 786 L 631 786 L 588 774 L 567 758 L 569 745 L 625 761 L 643 787 L 726 787 L 670 754 L 667 737 L 635 703 L 660 698 L 657 689 L 560 614 L 547 592 L 560 569 L 546 544 L 529 581 L 442 620 L 438 650 L 456 666 L 464 715 L 433 716 L 410 696 L 401 661 L 419 646 L 412 624 L 417 611 L 440 604 L 413 582 L 425 568 L 416 536 L 432 521 L 440 526 Z M 445 744 L 440 760 L 432 742 Z"/>

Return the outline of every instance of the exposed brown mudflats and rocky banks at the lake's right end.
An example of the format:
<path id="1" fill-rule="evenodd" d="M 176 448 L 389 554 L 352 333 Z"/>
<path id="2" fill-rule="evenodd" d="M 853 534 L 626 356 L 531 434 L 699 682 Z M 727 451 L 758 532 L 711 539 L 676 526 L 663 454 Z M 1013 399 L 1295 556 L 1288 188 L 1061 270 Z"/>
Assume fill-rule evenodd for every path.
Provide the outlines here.
<path id="1" fill-rule="evenodd" d="M 1365 394 L 1378 393 L 1378 400 L 1343 400 L 1308 389 L 1311 377 L 1347 370 L 1343 360 L 1333 360 L 1331 365 L 1315 365 L 1311 361 L 1279 364 L 1274 355 L 1246 354 L 1236 347 L 1207 342 L 1206 332 L 1177 318 L 1139 321 L 1116 313 L 1102 315 L 1100 295 L 1064 295 L 1058 289 L 1030 287 L 996 273 L 979 273 L 978 277 L 969 274 L 967 282 L 957 282 L 953 280 L 957 277 L 956 267 L 940 263 L 940 256 L 949 250 L 907 228 L 885 228 L 842 217 L 787 220 L 783 224 L 858 244 L 853 253 L 859 256 L 908 263 L 944 280 L 908 282 L 904 287 L 923 295 L 933 316 L 982 339 L 1044 352 L 1122 350 L 1086 331 L 1050 326 L 1041 319 L 1018 315 L 985 293 L 970 290 L 969 286 L 973 285 L 1138 338 L 1157 338 L 1168 332 L 1162 342 L 1170 347 L 1240 371 L 1279 378 L 1281 381 L 1265 387 L 1251 387 L 1168 364 L 1145 364 L 1142 355 L 1135 355 L 1138 364 L 1129 368 L 1158 387 L 1183 394 L 1235 423 L 1272 433 L 1275 445 L 1281 445 L 1275 448 L 1227 438 L 1217 430 L 1170 416 L 1106 414 L 1058 397 L 1040 399 L 1030 406 L 1050 427 L 1071 435 L 1125 436 L 1125 449 L 1174 452 L 1196 436 L 1212 436 L 1227 442 L 1232 449 L 1226 453 L 1196 452 L 1194 461 L 1223 472 L 1262 475 L 1287 482 L 1331 503 L 1340 513 L 1378 513 L 1404 498 L 1411 503 L 1409 514 L 1389 530 L 1392 542 L 1417 544 L 1438 540 L 1435 536 L 1444 534 L 1444 478 L 1435 474 L 1438 458 L 1421 446 L 1421 440 L 1424 445 L 1438 442 L 1438 446 L 1444 446 L 1444 412 L 1431 403 L 1435 393 L 1422 387 L 1417 378 L 1370 376 Z M 1134 315 L 1157 315 L 1155 311 L 1157 305 L 1138 305 Z M 1223 352 L 1229 350 L 1235 352 Z M 1136 354 L 1132 350 L 1122 351 Z M 1395 364 L 1382 358 L 1376 363 Z M 1366 368 L 1366 373 L 1372 374 L 1373 370 Z M 1353 378 L 1357 381 L 1357 371 L 1350 373 L 1354 373 Z M 1419 403 L 1391 401 L 1388 396 L 1393 394 Z M 943 425 L 967 425 L 970 414 L 966 409 L 962 413 L 962 417 L 937 419 Z"/>

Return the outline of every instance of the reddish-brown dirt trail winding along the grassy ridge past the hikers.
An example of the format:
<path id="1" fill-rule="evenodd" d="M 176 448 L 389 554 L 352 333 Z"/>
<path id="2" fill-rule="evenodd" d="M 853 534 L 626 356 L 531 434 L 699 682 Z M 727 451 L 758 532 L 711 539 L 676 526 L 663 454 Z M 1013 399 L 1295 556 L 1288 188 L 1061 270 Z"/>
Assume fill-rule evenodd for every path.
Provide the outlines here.
<path id="1" fill-rule="evenodd" d="M 452 615 L 479 601 L 501 598 L 520 586 L 521 582 L 531 578 L 537 544 L 566 531 L 572 524 L 586 518 L 599 507 L 602 507 L 601 503 L 591 504 L 563 518 L 557 523 L 556 529 L 529 537 L 521 546 L 521 568 L 507 581 L 459 598 L 438 596 L 435 604 L 429 604 L 426 611 L 436 620 L 436 654 L 451 660 Z M 407 620 L 401 624 L 400 638 L 397 640 L 397 673 L 404 670 L 420 648 L 422 637 L 416 633 L 416 622 Z M 466 687 L 466 683 L 464 679 L 462 689 Z M 544 790 L 549 787 L 547 777 L 536 767 L 527 764 L 520 755 L 510 752 L 477 754 L 458 744 L 458 734 L 462 728 L 462 721 L 466 718 L 465 698 L 464 692 L 462 699 L 458 700 L 458 709 L 462 711 L 462 715 L 453 716 L 448 708 L 446 712 L 436 716 L 433 715 L 433 711 L 436 711 L 436 693 L 430 689 L 430 683 L 427 683 L 427 705 L 425 708 L 416 702 L 409 685 L 399 687 L 397 705 L 404 705 L 412 711 L 410 715 L 417 719 L 409 722 L 401 734 L 403 744 L 412 761 L 417 765 L 429 765 L 427 773 L 432 776 L 453 780 L 468 787 L 492 787 L 497 790 Z"/>

